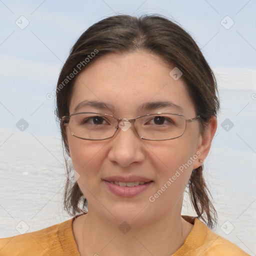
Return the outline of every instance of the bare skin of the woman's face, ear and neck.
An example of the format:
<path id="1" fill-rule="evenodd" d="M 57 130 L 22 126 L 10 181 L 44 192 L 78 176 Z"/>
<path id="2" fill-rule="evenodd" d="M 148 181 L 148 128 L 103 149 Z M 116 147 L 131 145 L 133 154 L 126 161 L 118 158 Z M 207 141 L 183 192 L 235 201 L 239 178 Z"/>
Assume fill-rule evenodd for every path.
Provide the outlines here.
<path id="1" fill-rule="evenodd" d="M 169 65 L 145 51 L 111 53 L 88 66 L 77 77 L 69 112 L 81 101 L 100 100 L 115 106 L 113 112 L 87 107 L 86 111 L 134 118 L 141 103 L 166 100 L 183 108 L 186 119 L 196 116 L 193 102 L 182 77 L 172 79 Z M 81 111 L 81 110 L 80 110 Z M 177 112 L 158 108 L 153 112 Z M 73 234 L 81 255 L 170 255 L 184 242 L 192 224 L 181 217 L 183 192 L 193 168 L 201 165 L 210 149 L 216 130 L 212 117 L 203 136 L 198 120 L 187 122 L 184 134 L 176 139 L 149 141 L 133 130 L 121 129 L 107 140 L 82 140 L 66 127 L 73 168 L 79 173 L 78 185 L 88 200 L 88 213 L 73 221 Z M 200 157 L 154 202 L 148 200 L 180 165 L 197 151 Z M 131 198 L 113 194 L 102 178 L 112 175 L 140 175 L 154 182 L 147 190 Z M 84 220 L 86 222 L 84 224 Z M 118 225 L 131 226 L 122 233 Z M 102 249 L 102 250 L 101 250 Z M 149 252 L 148 252 L 149 251 Z"/>

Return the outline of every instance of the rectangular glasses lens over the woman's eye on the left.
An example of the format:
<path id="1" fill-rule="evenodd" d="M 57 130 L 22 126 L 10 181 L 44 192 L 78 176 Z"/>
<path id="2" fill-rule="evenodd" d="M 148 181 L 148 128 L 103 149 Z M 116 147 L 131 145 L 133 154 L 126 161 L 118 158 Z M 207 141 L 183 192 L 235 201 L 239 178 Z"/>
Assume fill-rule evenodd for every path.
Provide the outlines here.
<path id="1" fill-rule="evenodd" d="M 117 126 L 114 117 L 97 113 L 76 113 L 70 117 L 72 133 L 80 138 L 104 139 L 111 137 Z"/>

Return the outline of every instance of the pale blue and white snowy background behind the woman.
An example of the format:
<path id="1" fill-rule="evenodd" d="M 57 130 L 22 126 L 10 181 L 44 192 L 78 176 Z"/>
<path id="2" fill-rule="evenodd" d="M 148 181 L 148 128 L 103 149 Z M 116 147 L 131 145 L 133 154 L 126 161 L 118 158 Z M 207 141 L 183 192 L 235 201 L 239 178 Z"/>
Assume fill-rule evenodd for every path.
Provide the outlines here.
<path id="1" fill-rule="evenodd" d="M 55 103 L 46 95 L 72 44 L 106 16 L 160 13 L 193 36 L 217 77 L 221 109 L 204 162 L 215 232 L 256 255 L 255 10 L 255 0 L 0 1 L 0 237 L 19 234 L 20 221 L 30 232 L 71 218 L 62 206 Z M 193 213 L 188 200 L 182 213 Z"/>

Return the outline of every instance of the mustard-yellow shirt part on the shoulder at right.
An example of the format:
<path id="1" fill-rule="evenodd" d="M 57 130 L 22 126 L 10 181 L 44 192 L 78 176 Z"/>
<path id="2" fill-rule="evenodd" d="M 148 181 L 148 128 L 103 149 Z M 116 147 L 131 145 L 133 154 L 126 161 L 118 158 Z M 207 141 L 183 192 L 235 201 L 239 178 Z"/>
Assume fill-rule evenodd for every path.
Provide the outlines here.
<path id="1" fill-rule="evenodd" d="M 173 256 L 248 256 L 241 248 L 228 241 L 224 237 L 214 233 L 198 218 L 183 216 L 183 218 L 193 223 L 194 226 L 181 247 Z"/>

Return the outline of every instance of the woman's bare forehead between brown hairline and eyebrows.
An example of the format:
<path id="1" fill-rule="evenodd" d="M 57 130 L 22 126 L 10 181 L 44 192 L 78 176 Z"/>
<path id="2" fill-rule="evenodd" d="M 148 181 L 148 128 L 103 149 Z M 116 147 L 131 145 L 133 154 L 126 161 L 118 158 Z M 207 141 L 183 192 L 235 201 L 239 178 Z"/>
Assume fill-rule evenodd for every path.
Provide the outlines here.
<path id="1" fill-rule="evenodd" d="M 107 54 L 78 75 L 69 112 L 83 101 L 100 101 L 111 105 L 115 114 L 132 116 L 148 102 L 168 101 L 192 114 L 186 85 L 182 78 L 174 80 L 169 75 L 172 69 L 160 57 L 144 51 Z"/>

